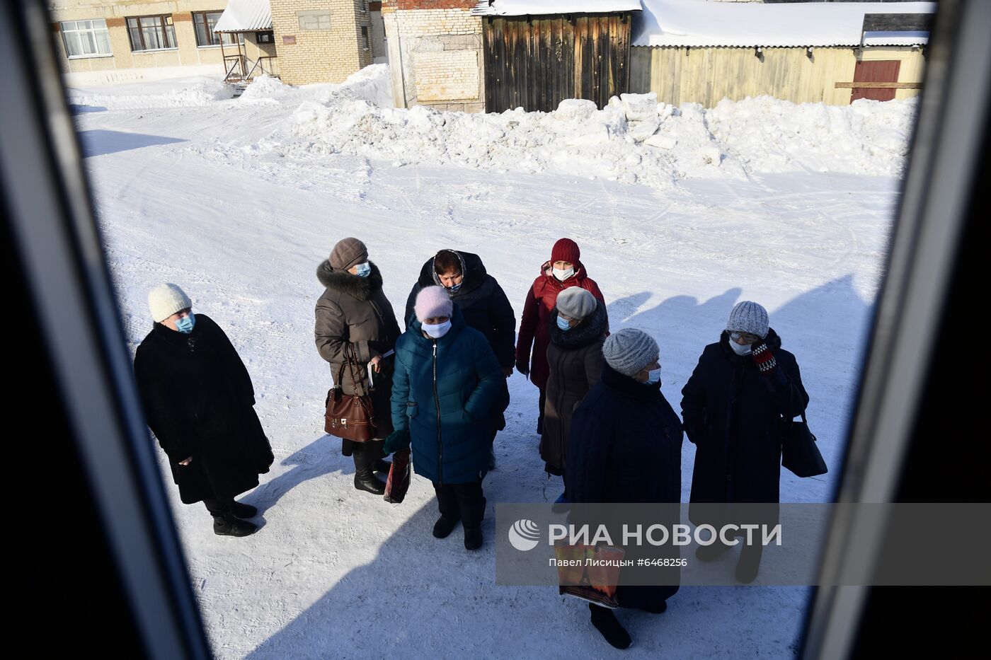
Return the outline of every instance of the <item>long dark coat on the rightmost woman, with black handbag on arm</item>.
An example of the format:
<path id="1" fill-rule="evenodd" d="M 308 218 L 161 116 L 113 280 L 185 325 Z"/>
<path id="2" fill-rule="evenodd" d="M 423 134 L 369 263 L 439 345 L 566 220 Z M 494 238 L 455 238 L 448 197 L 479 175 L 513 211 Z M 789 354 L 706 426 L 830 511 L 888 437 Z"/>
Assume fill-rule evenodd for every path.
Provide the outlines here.
<path id="1" fill-rule="evenodd" d="M 751 356 L 733 353 L 723 331 L 682 389 L 685 431 L 696 445 L 693 503 L 779 501 L 780 418 L 801 414 L 809 394 L 778 334 L 770 329 L 764 341 L 778 363 L 771 377 Z"/>

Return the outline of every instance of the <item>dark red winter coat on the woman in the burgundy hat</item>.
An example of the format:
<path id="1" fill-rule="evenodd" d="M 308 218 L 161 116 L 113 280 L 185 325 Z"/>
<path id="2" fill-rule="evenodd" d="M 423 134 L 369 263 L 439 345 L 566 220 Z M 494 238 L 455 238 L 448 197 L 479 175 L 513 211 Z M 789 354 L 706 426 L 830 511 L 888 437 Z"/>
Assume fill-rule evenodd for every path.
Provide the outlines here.
<path id="1" fill-rule="evenodd" d="M 571 286 L 581 286 L 606 302 L 599 284 L 586 274 L 581 262 L 575 264 L 575 275 L 564 281 L 554 276 L 550 262 L 544 262 L 540 267 L 540 276 L 533 280 L 523 304 L 523 317 L 519 321 L 519 337 L 516 339 L 516 362 L 530 363 L 530 381 L 540 389 L 547 386 L 547 346 L 550 344 L 547 322 L 557 304 L 558 293 Z"/>

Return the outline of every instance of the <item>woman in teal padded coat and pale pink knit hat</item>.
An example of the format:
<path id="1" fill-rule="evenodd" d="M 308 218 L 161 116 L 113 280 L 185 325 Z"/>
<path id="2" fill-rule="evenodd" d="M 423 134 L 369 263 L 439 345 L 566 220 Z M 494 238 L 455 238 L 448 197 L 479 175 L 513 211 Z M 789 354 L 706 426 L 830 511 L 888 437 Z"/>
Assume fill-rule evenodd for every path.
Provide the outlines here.
<path id="1" fill-rule="evenodd" d="M 482 545 L 492 416 L 505 378 L 489 342 L 470 327 L 443 286 L 416 296 L 416 317 L 395 343 L 392 424 L 385 452 L 412 447 L 416 474 L 433 482 L 444 538 L 460 520 L 465 547 Z"/>

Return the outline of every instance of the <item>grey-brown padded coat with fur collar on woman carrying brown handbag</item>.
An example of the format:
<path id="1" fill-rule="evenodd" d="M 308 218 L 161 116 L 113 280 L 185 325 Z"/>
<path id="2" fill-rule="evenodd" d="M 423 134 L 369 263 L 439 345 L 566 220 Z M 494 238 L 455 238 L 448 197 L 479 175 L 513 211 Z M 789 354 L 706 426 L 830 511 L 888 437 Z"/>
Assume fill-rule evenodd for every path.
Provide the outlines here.
<path id="1" fill-rule="evenodd" d="M 372 390 L 369 389 L 368 363 L 375 356 L 392 350 L 399 336 L 399 325 L 382 290 L 382 273 L 372 264 L 368 277 L 351 275 L 347 271 L 335 271 L 329 261 L 324 261 L 317 268 L 316 276 L 326 287 L 316 301 L 316 348 L 320 357 L 330 363 L 331 377 L 335 381 L 344 364 L 345 349 L 358 360 L 354 377 L 345 367 L 341 387 L 345 394 L 365 395 L 371 391 L 376 414 L 375 437 L 385 438 L 392 432 L 389 414 L 391 358 L 386 359 L 382 371 L 374 375 Z M 345 455 L 350 455 L 351 441 L 345 440 L 342 449 Z"/>

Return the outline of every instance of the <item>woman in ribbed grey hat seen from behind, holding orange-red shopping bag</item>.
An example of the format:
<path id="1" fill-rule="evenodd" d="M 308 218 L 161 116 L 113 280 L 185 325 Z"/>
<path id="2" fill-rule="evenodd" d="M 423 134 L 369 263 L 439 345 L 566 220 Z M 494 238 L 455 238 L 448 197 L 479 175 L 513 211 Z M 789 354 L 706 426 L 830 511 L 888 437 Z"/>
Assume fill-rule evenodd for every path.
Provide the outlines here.
<path id="1" fill-rule="evenodd" d="M 677 503 L 681 500 L 681 420 L 661 393 L 657 342 L 634 328 L 603 344 L 602 379 L 578 406 L 571 422 L 565 467 L 572 502 Z M 677 522 L 677 520 L 667 521 Z M 619 538 L 613 536 L 613 538 Z M 677 558 L 677 548 L 667 552 Z M 637 549 L 627 546 L 624 558 Z M 616 601 L 660 613 L 678 592 L 677 569 L 662 569 L 659 586 L 619 585 Z M 616 648 L 630 644 L 612 610 L 589 605 L 592 623 Z"/>

